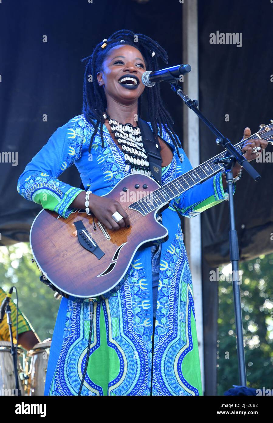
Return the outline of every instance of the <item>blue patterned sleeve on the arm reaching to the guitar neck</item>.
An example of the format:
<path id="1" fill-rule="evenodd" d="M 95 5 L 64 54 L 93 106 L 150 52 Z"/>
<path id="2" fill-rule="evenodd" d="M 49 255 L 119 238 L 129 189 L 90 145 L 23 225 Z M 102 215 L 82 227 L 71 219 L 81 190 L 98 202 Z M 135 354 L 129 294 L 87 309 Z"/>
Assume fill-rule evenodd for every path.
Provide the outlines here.
<path id="1" fill-rule="evenodd" d="M 182 148 L 178 148 L 183 157 L 183 173 L 192 169 L 187 155 Z M 235 184 L 233 184 L 233 194 L 235 192 Z M 223 189 L 222 173 L 207 179 L 202 183 L 196 184 L 189 190 L 184 191 L 179 197 L 170 201 L 170 208 L 175 206 L 177 211 L 184 217 L 195 217 L 202 211 L 221 203 L 228 199 L 227 189 Z"/>

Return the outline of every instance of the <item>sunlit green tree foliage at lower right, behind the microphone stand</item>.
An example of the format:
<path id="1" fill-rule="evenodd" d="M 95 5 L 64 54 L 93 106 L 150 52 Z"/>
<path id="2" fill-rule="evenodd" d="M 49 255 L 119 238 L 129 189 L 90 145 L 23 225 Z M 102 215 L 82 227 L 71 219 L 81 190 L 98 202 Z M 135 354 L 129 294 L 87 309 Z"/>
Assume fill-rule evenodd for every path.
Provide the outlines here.
<path id="1" fill-rule="evenodd" d="M 273 389 L 273 254 L 240 263 L 241 306 L 249 387 Z M 240 385 L 232 281 L 219 282 L 218 395 Z"/>

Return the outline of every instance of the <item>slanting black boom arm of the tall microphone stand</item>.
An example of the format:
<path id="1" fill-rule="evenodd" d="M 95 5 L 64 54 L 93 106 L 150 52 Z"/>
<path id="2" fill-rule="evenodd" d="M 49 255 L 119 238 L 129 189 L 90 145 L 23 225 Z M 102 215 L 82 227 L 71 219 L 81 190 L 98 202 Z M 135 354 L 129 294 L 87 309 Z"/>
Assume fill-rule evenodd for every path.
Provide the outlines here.
<path id="1" fill-rule="evenodd" d="M 222 145 L 227 151 L 232 154 L 236 161 L 240 163 L 241 166 L 246 170 L 247 173 L 251 176 L 251 178 L 254 179 L 254 181 L 259 181 L 261 179 L 261 176 L 255 170 L 250 163 L 246 160 L 245 157 L 243 157 L 242 154 L 240 154 L 234 146 L 232 146 L 232 143 L 228 138 L 223 137 L 221 132 L 218 131 L 218 129 L 203 115 L 203 113 L 200 112 L 199 109 L 197 109 L 198 102 L 197 100 L 191 100 L 186 94 L 184 94 L 182 88 L 179 85 L 175 85 L 173 83 L 170 83 L 171 89 L 179 96 L 181 99 L 185 102 L 185 104 L 192 109 L 192 111 L 203 121 L 208 128 L 211 130 L 211 132 L 216 135 L 216 143 L 218 145 Z"/>

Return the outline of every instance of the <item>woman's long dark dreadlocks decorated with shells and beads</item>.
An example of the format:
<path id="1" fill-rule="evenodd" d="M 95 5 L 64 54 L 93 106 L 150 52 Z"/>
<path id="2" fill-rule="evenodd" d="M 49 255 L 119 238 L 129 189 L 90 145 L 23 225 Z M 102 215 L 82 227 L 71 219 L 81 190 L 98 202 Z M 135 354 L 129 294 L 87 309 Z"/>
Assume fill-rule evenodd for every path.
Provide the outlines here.
<path id="1" fill-rule="evenodd" d="M 98 131 L 100 125 L 100 137 L 102 140 L 102 146 L 104 147 L 103 142 L 103 124 L 105 118 L 103 113 L 106 110 L 107 102 L 104 89 L 102 86 L 98 85 L 97 82 L 97 72 L 101 71 L 103 68 L 103 61 L 108 55 L 109 50 L 115 46 L 120 45 L 130 45 L 137 48 L 145 61 L 146 69 L 155 71 L 158 69 L 157 56 L 162 58 L 165 63 L 168 63 L 168 54 L 167 52 L 154 40 L 143 34 L 135 34 L 130 30 L 119 30 L 107 38 L 107 45 L 105 48 L 101 48 L 103 42 L 97 44 L 95 49 L 92 52 L 92 55 L 83 58 L 82 62 L 87 62 L 84 73 L 84 101 L 82 113 L 84 117 L 94 126 L 95 131 L 92 134 L 89 153 L 92 148 L 93 139 Z M 154 51 L 154 57 L 151 56 L 151 53 Z M 89 83 L 89 77 L 92 75 L 92 83 Z M 155 140 L 157 141 L 157 133 L 159 126 L 159 134 L 162 137 L 162 125 L 170 135 L 173 140 L 174 145 L 176 146 L 176 151 L 179 156 L 178 146 L 181 148 L 181 143 L 175 132 L 173 131 L 173 120 L 170 117 L 170 114 L 165 109 L 162 99 L 160 96 L 159 84 L 155 84 L 153 87 L 147 90 L 147 102 L 149 104 L 149 119 L 151 126 L 154 132 Z M 140 98 L 138 99 L 138 116 L 140 116 L 141 110 Z M 141 116 L 140 116 L 141 117 Z"/>

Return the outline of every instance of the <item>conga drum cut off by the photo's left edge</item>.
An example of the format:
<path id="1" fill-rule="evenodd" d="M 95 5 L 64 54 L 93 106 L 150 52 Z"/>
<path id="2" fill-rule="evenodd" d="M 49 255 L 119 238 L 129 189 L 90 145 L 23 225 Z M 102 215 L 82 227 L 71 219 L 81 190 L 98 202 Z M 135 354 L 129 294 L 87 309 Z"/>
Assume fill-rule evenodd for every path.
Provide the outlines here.
<path id="1" fill-rule="evenodd" d="M 21 395 L 24 395 L 24 387 L 20 380 L 20 373 L 23 373 L 23 369 L 20 365 L 19 358 L 23 357 L 23 349 L 17 348 L 17 371 L 19 388 Z M 15 391 L 15 376 L 14 376 L 14 365 L 13 358 L 11 355 L 11 343 L 8 341 L 0 341 L 0 395 L 11 395 L 16 396 L 18 393 Z"/>

